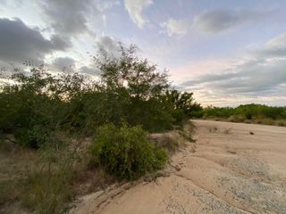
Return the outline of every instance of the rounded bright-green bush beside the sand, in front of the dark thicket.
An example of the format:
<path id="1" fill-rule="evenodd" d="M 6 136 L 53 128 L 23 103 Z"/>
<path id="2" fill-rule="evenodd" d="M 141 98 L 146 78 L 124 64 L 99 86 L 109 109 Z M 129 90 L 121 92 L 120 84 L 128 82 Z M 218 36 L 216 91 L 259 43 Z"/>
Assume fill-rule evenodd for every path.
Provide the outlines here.
<path id="1" fill-rule="evenodd" d="M 164 149 L 147 139 L 141 127 L 116 128 L 113 124 L 97 129 L 90 152 L 92 163 L 122 179 L 135 179 L 162 169 L 167 161 Z"/>

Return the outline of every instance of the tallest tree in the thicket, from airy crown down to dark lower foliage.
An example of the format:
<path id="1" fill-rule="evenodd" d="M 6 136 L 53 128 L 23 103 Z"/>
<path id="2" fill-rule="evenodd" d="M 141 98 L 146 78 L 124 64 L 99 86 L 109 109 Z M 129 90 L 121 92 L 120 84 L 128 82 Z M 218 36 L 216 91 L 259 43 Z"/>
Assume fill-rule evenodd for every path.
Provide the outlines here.
<path id="1" fill-rule="evenodd" d="M 172 128 L 172 115 L 164 110 L 159 96 L 169 87 L 165 72 L 156 70 L 156 65 L 141 60 L 136 55 L 136 48 L 131 45 L 124 48 L 119 45 L 121 57 L 110 57 L 101 53 L 95 57 L 101 70 L 101 84 L 108 97 L 105 112 L 111 112 L 115 125 L 122 119 L 130 125 L 141 125 L 148 131 L 163 131 Z M 109 115 L 106 112 L 107 115 Z"/>

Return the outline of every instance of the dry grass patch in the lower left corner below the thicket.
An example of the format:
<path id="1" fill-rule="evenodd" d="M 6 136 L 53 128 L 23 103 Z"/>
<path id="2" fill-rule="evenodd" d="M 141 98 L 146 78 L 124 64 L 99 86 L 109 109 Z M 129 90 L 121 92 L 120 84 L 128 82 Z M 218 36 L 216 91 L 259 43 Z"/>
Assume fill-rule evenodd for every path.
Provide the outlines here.
<path id="1" fill-rule="evenodd" d="M 71 144 L 71 148 L 57 152 L 2 145 L 0 213 L 68 213 L 75 196 L 114 182 L 100 169 L 88 167 L 86 145 L 76 150 L 76 144 Z"/>

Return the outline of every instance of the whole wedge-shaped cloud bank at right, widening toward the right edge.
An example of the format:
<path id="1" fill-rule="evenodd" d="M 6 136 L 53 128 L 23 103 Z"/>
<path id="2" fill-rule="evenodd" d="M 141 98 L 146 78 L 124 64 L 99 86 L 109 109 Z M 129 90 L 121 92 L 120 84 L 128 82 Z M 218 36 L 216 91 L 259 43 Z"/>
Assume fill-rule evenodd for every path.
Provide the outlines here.
<path id="1" fill-rule="evenodd" d="M 243 63 L 216 74 L 185 81 L 181 87 L 197 91 L 203 99 L 286 95 L 286 34 L 248 53 Z M 239 61 L 240 59 L 238 59 Z M 238 100 L 233 101 L 237 103 Z"/>

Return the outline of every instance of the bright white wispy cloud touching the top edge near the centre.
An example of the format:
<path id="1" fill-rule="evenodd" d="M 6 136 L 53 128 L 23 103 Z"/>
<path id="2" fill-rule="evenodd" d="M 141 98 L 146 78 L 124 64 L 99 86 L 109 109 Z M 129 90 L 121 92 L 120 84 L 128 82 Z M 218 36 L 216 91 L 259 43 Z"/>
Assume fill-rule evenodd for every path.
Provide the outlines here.
<path id="1" fill-rule="evenodd" d="M 153 0 L 124 0 L 125 9 L 130 15 L 130 19 L 141 29 L 147 23 L 142 12 L 153 4 Z"/>

